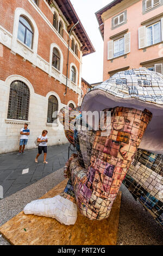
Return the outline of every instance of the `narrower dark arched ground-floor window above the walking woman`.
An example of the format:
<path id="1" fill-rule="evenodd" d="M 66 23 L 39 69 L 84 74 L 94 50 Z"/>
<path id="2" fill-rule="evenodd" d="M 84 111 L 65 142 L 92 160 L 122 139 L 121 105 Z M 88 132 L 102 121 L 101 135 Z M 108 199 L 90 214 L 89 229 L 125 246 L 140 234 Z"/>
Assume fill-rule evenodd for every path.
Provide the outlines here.
<path id="1" fill-rule="evenodd" d="M 47 113 L 47 123 L 54 123 L 57 121 L 58 111 L 58 100 L 54 95 L 49 96 L 48 99 L 48 113 Z"/>

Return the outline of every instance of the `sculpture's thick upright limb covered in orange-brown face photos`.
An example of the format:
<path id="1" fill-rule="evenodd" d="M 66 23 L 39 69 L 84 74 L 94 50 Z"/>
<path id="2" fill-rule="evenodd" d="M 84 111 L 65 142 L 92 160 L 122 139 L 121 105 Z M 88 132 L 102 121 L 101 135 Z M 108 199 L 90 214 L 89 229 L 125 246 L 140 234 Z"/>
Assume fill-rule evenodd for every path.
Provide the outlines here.
<path id="1" fill-rule="evenodd" d="M 86 140 L 86 135 L 80 137 L 80 132 L 78 133 L 80 148 L 84 145 L 83 149 L 86 150 L 87 147 L 85 156 L 90 159 L 91 155 L 91 164 L 87 171 L 86 184 L 79 181 L 80 186 L 77 186 L 75 194 L 80 211 L 91 219 L 101 219 L 109 214 L 143 132 L 151 119 L 151 113 L 148 111 L 120 107 L 111 109 L 111 115 L 109 137 L 101 136 L 102 131 L 97 131 L 91 154 L 87 154 L 90 153 L 91 147 L 91 144 L 86 144 L 86 141 L 89 142 L 89 136 Z M 96 201 L 98 203 L 95 203 Z M 98 209 L 91 202 L 98 205 Z M 103 202 L 101 206 L 99 202 Z"/>

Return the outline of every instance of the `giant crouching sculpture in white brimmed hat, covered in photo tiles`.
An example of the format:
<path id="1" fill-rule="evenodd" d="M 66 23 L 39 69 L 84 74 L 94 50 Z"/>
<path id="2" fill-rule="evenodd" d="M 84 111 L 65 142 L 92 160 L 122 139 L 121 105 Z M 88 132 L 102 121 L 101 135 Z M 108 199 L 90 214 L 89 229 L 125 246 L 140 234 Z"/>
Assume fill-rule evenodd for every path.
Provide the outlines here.
<path id="1" fill-rule="evenodd" d="M 152 84 L 160 90 L 159 96 Z M 67 186 L 59 196 L 27 204 L 24 213 L 56 218 L 70 225 L 76 222 L 78 206 L 90 220 L 108 218 L 137 149 L 162 153 L 162 145 L 158 144 L 159 139 L 163 140 L 160 84 L 163 76 L 147 69 L 118 72 L 87 93 L 81 109 L 70 110 L 71 118 L 66 118 L 67 109 L 61 109 L 60 120 L 70 122 L 65 135 L 77 149 L 77 154 L 66 162 Z M 83 118 L 87 111 L 103 111 L 96 129 L 95 120 L 92 124 L 89 117 Z M 155 122 L 160 125 L 157 135 Z"/>

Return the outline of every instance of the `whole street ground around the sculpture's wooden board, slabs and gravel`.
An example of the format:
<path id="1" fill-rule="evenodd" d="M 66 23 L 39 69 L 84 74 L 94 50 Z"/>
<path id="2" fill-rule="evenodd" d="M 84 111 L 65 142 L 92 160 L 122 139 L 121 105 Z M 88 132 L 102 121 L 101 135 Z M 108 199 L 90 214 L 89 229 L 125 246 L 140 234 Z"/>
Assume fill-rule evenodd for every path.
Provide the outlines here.
<path id="1" fill-rule="evenodd" d="M 64 180 L 63 167 L 68 159 L 68 146 L 48 147 L 48 164 L 43 164 L 43 154 L 39 163 L 35 163 L 37 149 L 28 150 L 20 156 L 16 153 L 0 156 L 0 188 L 3 186 L 4 192 L 0 199 L 0 225 L 22 211 L 27 203 L 39 199 Z M 123 184 L 120 190 L 122 199 L 117 245 L 163 245 L 160 225 L 139 201 L 135 201 Z M 10 243 L 0 235 L 0 245 Z"/>

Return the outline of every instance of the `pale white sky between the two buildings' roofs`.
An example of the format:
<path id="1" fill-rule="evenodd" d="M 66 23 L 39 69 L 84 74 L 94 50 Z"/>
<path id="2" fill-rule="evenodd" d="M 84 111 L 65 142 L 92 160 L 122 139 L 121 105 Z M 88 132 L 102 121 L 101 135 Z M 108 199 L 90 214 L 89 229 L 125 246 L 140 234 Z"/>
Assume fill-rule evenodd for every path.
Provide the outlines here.
<path id="1" fill-rule="evenodd" d="M 70 0 L 96 52 L 82 59 L 82 78 L 88 83 L 103 81 L 103 39 L 95 13 L 112 0 Z"/>

